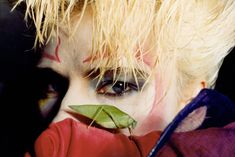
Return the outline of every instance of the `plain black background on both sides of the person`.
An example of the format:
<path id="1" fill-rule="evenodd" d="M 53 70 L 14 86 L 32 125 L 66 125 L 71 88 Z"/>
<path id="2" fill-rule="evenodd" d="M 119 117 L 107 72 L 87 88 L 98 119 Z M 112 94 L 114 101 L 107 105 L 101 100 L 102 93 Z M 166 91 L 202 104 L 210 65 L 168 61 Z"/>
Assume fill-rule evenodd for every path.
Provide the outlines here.
<path id="1" fill-rule="evenodd" d="M 0 0 L 0 156 L 22 156 L 46 127 L 37 108 L 40 75 L 34 27 Z M 235 50 L 224 60 L 215 89 L 235 102 Z M 27 98 L 27 99 L 26 99 Z M 4 155 L 5 154 L 5 155 Z"/>

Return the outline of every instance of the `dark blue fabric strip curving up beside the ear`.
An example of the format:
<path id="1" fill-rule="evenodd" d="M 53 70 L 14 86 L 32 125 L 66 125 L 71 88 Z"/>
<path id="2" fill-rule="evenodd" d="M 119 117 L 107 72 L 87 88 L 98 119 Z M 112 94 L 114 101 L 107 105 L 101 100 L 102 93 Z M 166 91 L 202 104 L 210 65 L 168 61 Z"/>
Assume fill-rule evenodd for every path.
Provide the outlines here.
<path id="1" fill-rule="evenodd" d="M 156 140 L 155 146 L 152 148 L 148 157 L 154 157 L 161 148 L 167 143 L 178 125 L 195 109 L 206 106 L 207 115 L 199 129 L 210 127 L 222 127 L 235 121 L 235 105 L 228 97 L 211 89 L 202 89 L 184 109 L 182 109 L 173 121 L 166 127 Z M 207 133 L 207 131 L 205 132 Z"/>

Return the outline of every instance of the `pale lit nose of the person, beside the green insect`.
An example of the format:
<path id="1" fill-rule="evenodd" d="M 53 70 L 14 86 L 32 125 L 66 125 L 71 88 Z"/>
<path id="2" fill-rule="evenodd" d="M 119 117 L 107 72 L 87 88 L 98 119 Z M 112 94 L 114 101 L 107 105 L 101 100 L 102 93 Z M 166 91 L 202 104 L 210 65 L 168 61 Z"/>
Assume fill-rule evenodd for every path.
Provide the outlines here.
<path id="1" fill-rule="evenodd" d="M 66 92 L 60 109 L 53 119 L 53 122 L 59 122 L 66 118 L 76 120 L 68 111 L 70 105 L 92 104 L 95 100 L 95 90 L 90 87 L 86 80 L 77 78 L 70 81 L 68 91 Z"/>

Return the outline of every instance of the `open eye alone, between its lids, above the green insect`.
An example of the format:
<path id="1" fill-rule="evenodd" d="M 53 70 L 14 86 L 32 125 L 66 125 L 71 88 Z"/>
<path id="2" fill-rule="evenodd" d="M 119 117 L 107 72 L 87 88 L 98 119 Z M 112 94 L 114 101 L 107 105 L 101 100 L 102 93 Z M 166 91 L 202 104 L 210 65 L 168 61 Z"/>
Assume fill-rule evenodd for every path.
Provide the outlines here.
<path id="1" fill-rule="evenodd" d="M 122 96 L 132 91 L 137 91 L 136 84 L 123 82 L 123 81 L 101 81 L 97 88 L 98 94 L 104 94 L 107 96 Z"/>

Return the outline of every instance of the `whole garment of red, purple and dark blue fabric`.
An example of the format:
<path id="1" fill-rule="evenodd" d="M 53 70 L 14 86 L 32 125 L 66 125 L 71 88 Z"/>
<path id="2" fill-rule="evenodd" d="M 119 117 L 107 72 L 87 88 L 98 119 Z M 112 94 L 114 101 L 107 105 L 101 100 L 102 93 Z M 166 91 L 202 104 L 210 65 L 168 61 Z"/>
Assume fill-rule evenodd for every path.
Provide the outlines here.
<path id="1" fill-rule="evenodd" d="M 221 118 L 221 124 L 227 125 L 208 125 L 209 127 L 203 129 L 175 133 L 174 129 L 178 124 L 201 106 L 213 111 L 215 117 L 212 115 L 209 121 Z M 87 129 L 84 124 L 67 119 L 51 124 L 50 128 L 39 136 L 35 144 L 36 157 L 136 157 L 147 156 L 152 148 L 154 151 L 155 148 L 159 149 L 152 151 L 149 155 L 151 157 L 235 157 L 234 108 L 234 104 L 223 95 L 208 89 L 202 90 L 176 116 L 160 139 L 158 131 L 145 136 L 128 137 L 93 127 Z M 154 147 L 158 145 L 161 147 Z"/>

